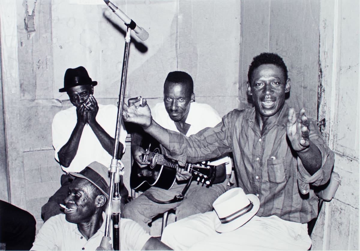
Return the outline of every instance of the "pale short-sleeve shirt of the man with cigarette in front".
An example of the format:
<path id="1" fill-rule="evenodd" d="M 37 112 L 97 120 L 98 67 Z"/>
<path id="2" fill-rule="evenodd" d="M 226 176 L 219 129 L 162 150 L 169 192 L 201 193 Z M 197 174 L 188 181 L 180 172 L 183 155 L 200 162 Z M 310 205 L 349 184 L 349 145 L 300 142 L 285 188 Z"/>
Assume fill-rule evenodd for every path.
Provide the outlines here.
<path id="1" fill-rule="evenodd" d="M 39 233 L 30 250 L 96 250 L 105 233 L 106 214 L 103 224 L 91 238 L 80 233 L 77 224 L 68 222 L 65 214 L 49 218 Z M 110 231 L 112 239 L 112 228 Z M 136 222 L 130 219 L 120 220 L 120 250 L 141 250 L 151 236 Z"/>

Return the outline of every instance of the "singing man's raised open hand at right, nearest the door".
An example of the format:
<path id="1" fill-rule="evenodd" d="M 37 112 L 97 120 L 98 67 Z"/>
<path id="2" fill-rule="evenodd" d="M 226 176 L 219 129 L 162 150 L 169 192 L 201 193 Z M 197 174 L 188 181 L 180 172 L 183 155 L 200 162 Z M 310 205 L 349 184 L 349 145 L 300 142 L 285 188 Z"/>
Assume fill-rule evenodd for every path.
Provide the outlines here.
<path id="1" fill-rule="evenodd" d="M 295 151 L 307 151 L 306 149 L 309 149 L 309 124 L 305 109 L 302 108 L 299 111 L 298 117 L 293 108 L 289 109 L 286 133 Z"/>

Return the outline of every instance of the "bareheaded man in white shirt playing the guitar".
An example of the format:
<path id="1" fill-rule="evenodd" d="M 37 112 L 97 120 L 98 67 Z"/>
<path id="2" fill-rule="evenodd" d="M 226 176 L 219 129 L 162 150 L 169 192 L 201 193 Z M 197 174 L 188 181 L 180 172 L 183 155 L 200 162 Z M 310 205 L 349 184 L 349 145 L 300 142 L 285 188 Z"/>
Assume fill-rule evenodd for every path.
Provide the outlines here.
<path id="1" fill-rule="evenodd" d="M 207 127 L 214 127 L 221 122 L 219 114 L 211 106 L 195 102 L 193 79 L 188 73 L 180 71 L 168 74 L 164 83 L 164 102 L 155 105 L 152 109 L 152 116 L 162 127 L 180 132 L 186 136 L 195 134 Z M 143 132 L 132 134 L 131 152 L 135 164 L 144 171 L 148 171 L 150 168 L 145 168 L 150 165 L 150 161 L 154 161 L 149 155 L 154 155 L 154 153 L 145 151 L 140 147 L 144 136 L 146 137 Z M 175 196 L 183 194 L 184 187 L 190 177 L 197 174 L 197 172 L 188 172 L 189 169 L 181 168 L 176 162 L 170 160 L 170 163 L 175 163 L 176 168 L 174 177 L 165 177 L 165 179 L 170 180 L 170 186 L 161 188 L 161 186 L 156 187 L 154 185 L 150 187 L 135 200 L 126 204 L 123 211 L 124 217 L 135 220 L 149 231 L 148 223 L 151 222 L 154 216 L 175 207 L 177 220 L 189 215 L 211 211 L 213 201 L 225 192 L 228 184 L 229 175 L 225 174 L 226 163 L 228 163 L 226 164 L 226 173 L 231 173 L 231 159 L 228 155 L 222 157 L 217 159 L 216 162 L 209 163 L 210 165 L 218 165 L 216 166 L 218 176 L 221 176 L 219 173 L 222 171 L 223 178 L 220 183 L 207 186 L 202 183 L 204 176 L 198 177 L 198 180 L 195 178 L 191 181 L 191 185 L 184 195 L 184 200 L 163 203 L 172 201 Z M 201 172 L 201 169 L 199 170 Z M 131 171 L 131 176 L 134 176 L 133 172 L 135 172 L 136 176 L 134 170 Z M 132 188 L 136 187 L 132 186 Z"/>

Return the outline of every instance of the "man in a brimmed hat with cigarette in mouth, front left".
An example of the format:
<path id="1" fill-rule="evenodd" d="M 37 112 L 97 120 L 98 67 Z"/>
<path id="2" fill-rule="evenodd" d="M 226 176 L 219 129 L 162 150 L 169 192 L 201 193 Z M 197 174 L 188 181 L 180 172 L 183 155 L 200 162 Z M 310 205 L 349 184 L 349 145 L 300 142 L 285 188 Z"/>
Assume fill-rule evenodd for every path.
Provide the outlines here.
<path id="1" fill-rule="evenodd" d="M 109 172 L 98 163 L 89 164 L 80 173 L 69 173 L 74 180 L 65 198 L 65 214 L 47 220 L 35 238 L 31 250 L 95 250 L 105 232 L 109 199 Z M 171 250 L 151 237 L 136 222 L 120 220 L 120 250 Z M 112 230 L 112 228 L 111 228 Z M 110 235 L 112 238 L 112 232 Z"/>

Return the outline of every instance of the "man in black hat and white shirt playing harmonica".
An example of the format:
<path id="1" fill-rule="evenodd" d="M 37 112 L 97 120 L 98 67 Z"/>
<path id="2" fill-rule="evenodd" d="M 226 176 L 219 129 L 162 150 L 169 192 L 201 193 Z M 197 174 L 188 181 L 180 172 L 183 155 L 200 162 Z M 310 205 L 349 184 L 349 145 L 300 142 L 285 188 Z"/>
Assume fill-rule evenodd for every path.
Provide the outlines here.
<path id="1" fill-rule="evenodd" d="M 44 222 L 61 213 L 59 204 L 63 204 L 72 181 L 69 172 L 80 172 L 93 161 L 110 167 L 114 147 L 111 135 L 115 134 L 118 111 L 114 105 L 98 105 L 93 96 L 97 84 L 82 66 L 65 72 L 64 87 L 59 92 L 67 92 L 73 107 L 55 114 L 52 136 L 55 159 L 66 174 L 61 177 L 59 190 L 41 208 Z M 117 159 L 121 159 L 125 151 L 126 136 L 121 125 Z M 129 193 L 124 186 L 120 193 L 124 204 Z"/>

